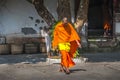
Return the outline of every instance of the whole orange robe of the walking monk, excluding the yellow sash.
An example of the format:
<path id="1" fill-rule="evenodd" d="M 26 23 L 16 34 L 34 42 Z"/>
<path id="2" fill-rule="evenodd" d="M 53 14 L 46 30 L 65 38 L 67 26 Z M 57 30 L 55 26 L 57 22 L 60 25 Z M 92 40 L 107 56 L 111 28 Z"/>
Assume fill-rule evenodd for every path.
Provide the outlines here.
<path id="1" fill-rule="evenodd" d="M 52 47 L 55 48 L 59 43 L 70 43 L 69 51 L 60 50 L 61 64 L 67 68 L 75 65 L 72 58 L 76 49 L 78 48 L 76 40 L 80 41 L 80 38 L 70 23 L 63 25 L 62 22 L 59 22 L 56 25 L 53 33 Z"/>

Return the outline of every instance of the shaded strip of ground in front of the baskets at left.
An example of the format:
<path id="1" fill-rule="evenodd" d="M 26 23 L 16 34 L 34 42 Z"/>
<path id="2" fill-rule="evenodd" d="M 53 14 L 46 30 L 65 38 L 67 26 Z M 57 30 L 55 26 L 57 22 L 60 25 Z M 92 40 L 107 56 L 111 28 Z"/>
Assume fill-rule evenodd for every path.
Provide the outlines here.
<path id="1" fill-rule="evenodd" d="M 46 62 L 45 54 L 0 55 L 0 64 Z"/>

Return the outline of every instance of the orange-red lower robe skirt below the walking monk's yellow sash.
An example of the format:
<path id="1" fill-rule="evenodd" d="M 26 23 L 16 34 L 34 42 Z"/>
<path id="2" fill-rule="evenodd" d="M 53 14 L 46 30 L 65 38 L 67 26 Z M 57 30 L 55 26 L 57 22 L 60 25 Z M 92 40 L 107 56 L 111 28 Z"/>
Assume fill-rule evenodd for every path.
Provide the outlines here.
<path id="1" fill-rule="evenodd" d="M 70 68 L 75 65 L 67 51 L 60 51 L 61 53 L 61 65 L 66 68 Z"/>

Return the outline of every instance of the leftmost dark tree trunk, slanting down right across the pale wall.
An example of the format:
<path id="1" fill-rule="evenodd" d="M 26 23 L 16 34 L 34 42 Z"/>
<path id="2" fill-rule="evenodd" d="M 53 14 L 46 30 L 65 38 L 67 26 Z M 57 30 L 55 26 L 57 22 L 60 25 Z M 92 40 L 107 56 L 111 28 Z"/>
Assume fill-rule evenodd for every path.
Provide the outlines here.
<path id="1" fill-rule="evenodd" d="M 44 0 L 32 0 L 38 14 L 46 21 L 49 27 L 51 27 L 56 21 L 52 14 L 44 6 Z"/>

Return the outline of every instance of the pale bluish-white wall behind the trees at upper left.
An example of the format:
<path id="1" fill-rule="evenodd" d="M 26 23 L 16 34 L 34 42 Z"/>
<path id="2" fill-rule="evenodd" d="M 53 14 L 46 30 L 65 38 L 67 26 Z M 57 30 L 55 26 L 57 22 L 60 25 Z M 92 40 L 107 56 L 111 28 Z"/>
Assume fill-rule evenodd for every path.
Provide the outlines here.
<path id="1" fill-rule="evenodd" d="M 21 33 L 21 28 L 23 27 L 33 27 L 39 32 L 39 27 L 47 26 L 46 23 L 41 23 L 35 27 L 35 19 L 42 20 L 42 18 L 37 14 L 34 5 L 26 0 L 4 1 L 5 3 L 0 3 L 0 34 Z M 52 2 L 51 0 L 45 0 L 45 5 L 57 20 L 57 0 L 52 0 Z M 74 11 L 73 9 L 71 8 L 71 11 Z M 74 13 L 72 15 L 74 16 Z M 29 16 L 32 16 L 34 19 L 30 20 Z"/>

